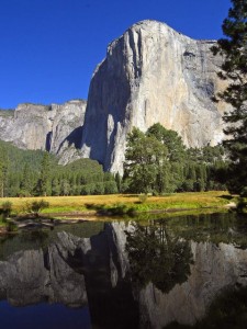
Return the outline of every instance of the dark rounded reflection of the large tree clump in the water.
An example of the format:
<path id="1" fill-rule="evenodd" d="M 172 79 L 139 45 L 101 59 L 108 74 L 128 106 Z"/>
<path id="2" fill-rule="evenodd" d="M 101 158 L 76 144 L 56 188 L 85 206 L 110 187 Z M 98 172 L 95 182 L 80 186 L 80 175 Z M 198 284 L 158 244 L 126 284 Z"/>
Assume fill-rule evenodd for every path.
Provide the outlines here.
<path id="1" fill-rule="evenodd" d="M 153 282 L 162 293 L 186 282 L 193 263 L 189 242 L 171 236 L 166 222 L 151 226 L 135 224 L 134 227 L 133 231 L 126 231 L 133 281 L 141 286 Z"/>

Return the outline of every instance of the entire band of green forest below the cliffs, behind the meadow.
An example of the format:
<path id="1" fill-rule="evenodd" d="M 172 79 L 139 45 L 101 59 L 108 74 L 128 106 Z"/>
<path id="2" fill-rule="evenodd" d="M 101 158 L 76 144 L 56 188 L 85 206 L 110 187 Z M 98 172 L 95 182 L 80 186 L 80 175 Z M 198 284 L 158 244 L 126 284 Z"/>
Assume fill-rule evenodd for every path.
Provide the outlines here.
<path id="1" fill-rule="evenodd" d="M 54 155 L 0 141 L 0 196 L 224 190 L 224 159 L 222 147 L 187 149 L 176 132 L 159 124 L 128 135 L 123 178 L 91 159 L 59 166 Z"/>

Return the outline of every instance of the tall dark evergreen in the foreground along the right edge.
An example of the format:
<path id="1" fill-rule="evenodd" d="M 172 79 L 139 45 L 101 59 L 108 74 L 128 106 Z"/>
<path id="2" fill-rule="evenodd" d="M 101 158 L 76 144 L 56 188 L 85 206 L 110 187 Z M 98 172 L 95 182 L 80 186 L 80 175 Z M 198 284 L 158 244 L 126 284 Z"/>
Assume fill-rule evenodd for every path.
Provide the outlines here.
<path id="1" fill-rule="evenodd" d="M 228 87 L 218 94 L 220 99 L 232 104 L 233 111 L 224 115 L 227 124 L 224 141 L 232 164 L 228 189 L 242 193 L 247 189 L 247 1 L 232 0 L 228 16 L 222 25 L 224 38 L 213 47 L 214 54 L 224 56 L 220 77 L 228 79 Z"/>

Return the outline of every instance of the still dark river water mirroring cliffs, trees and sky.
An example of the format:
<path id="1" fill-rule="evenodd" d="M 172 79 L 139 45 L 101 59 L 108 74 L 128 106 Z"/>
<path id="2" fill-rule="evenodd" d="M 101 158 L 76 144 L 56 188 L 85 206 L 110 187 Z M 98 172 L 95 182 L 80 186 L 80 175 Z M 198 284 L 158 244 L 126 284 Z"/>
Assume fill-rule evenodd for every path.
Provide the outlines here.
<path id="1" fill-rule="evenodd" d="M 247 328 L 247 218 L 93 222 L 0 238 L 0 328 Z"/>

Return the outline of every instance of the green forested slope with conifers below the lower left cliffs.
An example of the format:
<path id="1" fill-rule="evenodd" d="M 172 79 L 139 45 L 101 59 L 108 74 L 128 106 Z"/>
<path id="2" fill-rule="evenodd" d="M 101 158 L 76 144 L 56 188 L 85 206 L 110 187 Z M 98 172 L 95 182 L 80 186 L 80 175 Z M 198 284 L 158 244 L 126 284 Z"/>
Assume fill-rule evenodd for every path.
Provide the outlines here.
<path id="1" fill-rule="evenodd" d="M 21 150 L 0 140 L 0 197 L 117 193 L 114 177 L 94 160 L 59 166 L 44 151 Z"/>

